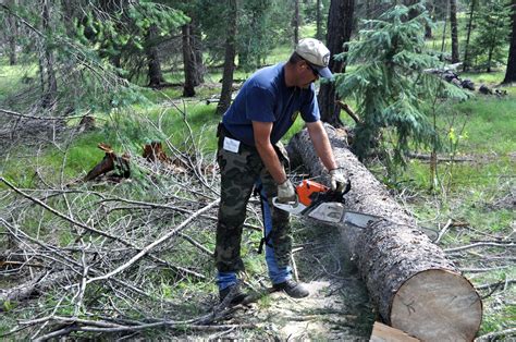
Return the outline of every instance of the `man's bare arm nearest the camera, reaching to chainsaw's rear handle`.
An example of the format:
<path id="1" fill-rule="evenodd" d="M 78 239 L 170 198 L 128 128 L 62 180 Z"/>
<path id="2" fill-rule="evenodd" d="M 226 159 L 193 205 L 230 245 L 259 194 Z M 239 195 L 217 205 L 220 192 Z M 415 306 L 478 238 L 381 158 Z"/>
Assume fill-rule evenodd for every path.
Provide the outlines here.
<path id="1" fill-rule="evenodd" d="M 284 183 L 286 179 L 280 158 L 271 144 L 272 122 L 253 121 L 253 132 L 255 134 L 255 145 L 263 164 L 272 175 L 277 184 Z"/>

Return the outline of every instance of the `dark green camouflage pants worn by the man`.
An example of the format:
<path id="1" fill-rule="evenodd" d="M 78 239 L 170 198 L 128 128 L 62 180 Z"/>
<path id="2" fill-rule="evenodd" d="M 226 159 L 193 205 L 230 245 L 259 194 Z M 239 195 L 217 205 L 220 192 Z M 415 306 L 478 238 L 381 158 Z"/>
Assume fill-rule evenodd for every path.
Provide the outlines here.
<path id="1" fill-rule="evenodd" d="M 241 144 L 238 152 L 228 151 L 222 148 L 223 139 L 224 134 L 220 134 L 217 161 L 221 172 L 221 201 L 214 258 L 219 272 L 238 272 L 244 270 L 241 258 L 242 229 L 255 182 L 261 179 L 267 198 L 277 196 L 278 185 L 265 168 L 256 148 Z M 283 155 L 282 146 L 275 148 L 279 156 Z M 286 152 L 284 156 L 280 157 L 282 162 L 286 161 Z M 272 200 L 269 203 L 272 212 L 269 244 L 272 245 L 278 266 L 286 267 L 292 251 L 288 213 L 274 208 Z"/>

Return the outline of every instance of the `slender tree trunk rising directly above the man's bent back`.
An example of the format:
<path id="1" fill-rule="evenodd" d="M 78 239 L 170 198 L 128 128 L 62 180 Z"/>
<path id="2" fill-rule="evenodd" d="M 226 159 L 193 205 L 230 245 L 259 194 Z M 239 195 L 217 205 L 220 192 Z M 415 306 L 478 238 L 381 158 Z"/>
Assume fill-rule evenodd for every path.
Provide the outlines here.
<path id="1" fill-rule="evenodd" d="M 224 72 L 222 76 L 222 90 L 220 94 L 217 113 L 222 115 L 231 105 L 231 95 L 233 91 L 233 72 L 235 70 L 236 54 L 236 0 L 228 0 L 229 17 L 228 17 L 228 36 L 225 37 L 225 57 Z"/>

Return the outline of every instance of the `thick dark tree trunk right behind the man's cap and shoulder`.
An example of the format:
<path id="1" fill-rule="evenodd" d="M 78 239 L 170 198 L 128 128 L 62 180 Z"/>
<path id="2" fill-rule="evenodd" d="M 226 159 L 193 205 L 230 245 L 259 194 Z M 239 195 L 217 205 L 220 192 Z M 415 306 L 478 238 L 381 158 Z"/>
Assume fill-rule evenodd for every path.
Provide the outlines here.
<path id="1" fill-rule="evenodd" d="M 343 45 L 349 41 L 353 29 L 353 12 L 355 0 L 332 0 L 328 14 L 327 46 L 331 51 L 329 68 L 333 73 L 345 72 L 342 61 L 335 61 L 335 54 L 344 51 Z M 341 109 L 336 105 L 335 84 L 323 83 L 318 95 L 321 120 L 337 127 L 343 123 L 340 118 Z"/>

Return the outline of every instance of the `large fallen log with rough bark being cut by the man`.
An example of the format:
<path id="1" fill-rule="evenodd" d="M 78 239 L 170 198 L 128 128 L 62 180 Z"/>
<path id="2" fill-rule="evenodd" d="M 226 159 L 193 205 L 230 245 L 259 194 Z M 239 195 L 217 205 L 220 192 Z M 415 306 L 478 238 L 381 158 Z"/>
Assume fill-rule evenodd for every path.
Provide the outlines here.
<path id="1" fill-rule="evenodd" d="M 471 341 L 480 327 L 482 303 L 471 283 L 444 252 L 348 150 L 327 125 L 337 164 L 352 182 L 346 207 L 380 217 L 367 229 L 339 225 L 343 248 L 356 260 L 383 320 L 423 341 Z M 292 160 L 303 160 L 311 176 L 328 173 L 306 130 L 290 142 Z"/>

